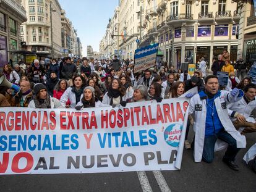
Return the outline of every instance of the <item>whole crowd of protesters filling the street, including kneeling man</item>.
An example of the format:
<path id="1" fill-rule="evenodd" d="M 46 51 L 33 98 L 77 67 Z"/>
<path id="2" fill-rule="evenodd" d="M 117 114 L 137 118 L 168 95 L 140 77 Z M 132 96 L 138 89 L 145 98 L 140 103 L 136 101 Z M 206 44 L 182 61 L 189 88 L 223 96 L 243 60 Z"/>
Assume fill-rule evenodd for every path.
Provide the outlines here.
<path id="1" fill-rule="evenodd" d="M 242 57 L 233 66 L 223 55 L 213 62 L 213 75 L 207 75 L 205 58 L 198 70 L 174 69 L 171 65 L 156 65 L 152 69 L 134 73 L 134 61 L 109 59 L 52 59 L 43 64 L 35 59 L 32 64 L 4 65 L 7 80 L 19 85 L 20 90 L 0 87 L 1 107 L 73 108 L 122 106 L 128 102 L 143 102 L 178 98 L 186 93 L 190 99 L 185 148 L 194 149 L 196 162 L 212 162 L 217 139 L 228 144 L 223 162 L 239 170 L 235 157 L 245 147 L 245 133 L 256 131 L 252 111 L 256 107 L 256 85 L 246 77 Z M 236 69 L 236 72 L 234 72 Z M 217 72 L 228 72 L 227 86 L 219 86 Z M 241 76 L 241 77 L 240 77 Z M 197 87 L 198 94 L 189 93 Z M 195 131 L 192 143 L 187 139 L 189 127 Z M 256 172 L 256 159 L 253 169 Z"/>

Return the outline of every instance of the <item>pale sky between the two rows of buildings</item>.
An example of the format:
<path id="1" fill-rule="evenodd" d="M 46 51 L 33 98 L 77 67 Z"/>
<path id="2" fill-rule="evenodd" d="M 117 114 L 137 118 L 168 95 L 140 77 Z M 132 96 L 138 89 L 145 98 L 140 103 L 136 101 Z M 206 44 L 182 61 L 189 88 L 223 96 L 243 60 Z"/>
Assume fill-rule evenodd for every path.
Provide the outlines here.
<path id="1" fill-rule="evenodd" d="M 87 45 L 99 51 L 100 40 L 106 31 L 109 18 L 113 17 L 118 0 L 59 0 L 66 17 L 72 21 L 87 56 Z"/>

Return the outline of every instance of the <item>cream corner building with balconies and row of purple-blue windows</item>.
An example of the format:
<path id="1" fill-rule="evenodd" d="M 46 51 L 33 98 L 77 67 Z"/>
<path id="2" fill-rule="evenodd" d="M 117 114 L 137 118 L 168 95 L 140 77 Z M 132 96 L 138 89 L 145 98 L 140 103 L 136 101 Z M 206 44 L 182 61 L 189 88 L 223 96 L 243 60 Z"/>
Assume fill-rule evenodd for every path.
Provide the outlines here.
<path id="1" fill-rule="evenodd" d="M 237 59 L 237 34 L 241 10 L 226 0 L 147 1 L 144 22 L 147 36 L 160 43 L 159 52 L 169 65 L 208 64 L 227 49 L 231 62 Z"/>

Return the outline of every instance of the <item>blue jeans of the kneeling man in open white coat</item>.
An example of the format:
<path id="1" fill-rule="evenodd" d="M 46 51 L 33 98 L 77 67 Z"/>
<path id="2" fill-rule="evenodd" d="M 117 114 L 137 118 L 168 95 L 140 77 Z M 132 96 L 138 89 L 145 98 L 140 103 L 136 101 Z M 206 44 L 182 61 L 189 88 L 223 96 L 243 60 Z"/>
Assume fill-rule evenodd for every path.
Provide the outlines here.
<path id="1" fill-rule="evenodd" d="M 223 157 L 226 161 L 234 161 L 239 148 L 236 147 L 236 140 L 228 132 L 221 130 L 215 135 L 205 137 L 203 144 L 203 161 L 211 163 L 214 158 L 214 147 L 217 139 L 228 143 L 228 149 Z"/>

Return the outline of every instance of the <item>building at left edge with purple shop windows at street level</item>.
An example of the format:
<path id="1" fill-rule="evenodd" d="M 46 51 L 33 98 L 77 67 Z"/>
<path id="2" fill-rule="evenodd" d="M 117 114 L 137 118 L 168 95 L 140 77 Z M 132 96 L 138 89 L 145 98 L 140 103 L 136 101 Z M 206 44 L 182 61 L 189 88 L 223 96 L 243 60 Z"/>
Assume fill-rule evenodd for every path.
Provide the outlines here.
<path id="1" fill-rule="evenodd" d="M 11 59 L 17 63 L 17 54 L 11 54 L 21 48 L 20 24 L 27 21 L 26 10 L 20 0 L 2 0 L 0 3 L 0 67 Z"/>

